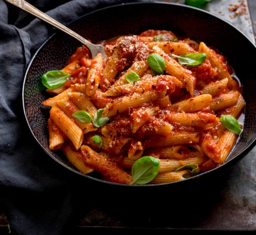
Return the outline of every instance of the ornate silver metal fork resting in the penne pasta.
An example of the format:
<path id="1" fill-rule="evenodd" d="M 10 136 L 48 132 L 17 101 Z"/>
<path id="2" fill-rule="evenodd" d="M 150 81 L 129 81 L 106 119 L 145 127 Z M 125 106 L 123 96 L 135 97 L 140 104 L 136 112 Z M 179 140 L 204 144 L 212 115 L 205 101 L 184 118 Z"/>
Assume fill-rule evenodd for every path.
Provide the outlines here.
<path id="1" fill-rule="evenodd" d="M 82 44 L 84 44 L 91 52 L 92 58 L 94 58 L 98 53 L 102 54 L 102 57 L 106 57 L 106 53 L 104 51 L 104 47 L 102 45 L 93 44 L 87 41 L 85 38 L 80 36 L 78 33 L 70 30 L 68 27 L 64 26 L 63 24 L 59 23 L 58 21 L 54 20 L 52 17 L 46 15 L 44 12 L 38 10 L 36 7 L 32 6 L 26 1 L 23 0 L 5 0 L 10 2 L 12 5 L 19 7 L 20 9 L 27 11 L 28 13 L 36 16 L 37 18 L 46 21 L 50 25 L 62 30 L 63 32 L 69 34 L 70 36 L 76 38 Z"/>

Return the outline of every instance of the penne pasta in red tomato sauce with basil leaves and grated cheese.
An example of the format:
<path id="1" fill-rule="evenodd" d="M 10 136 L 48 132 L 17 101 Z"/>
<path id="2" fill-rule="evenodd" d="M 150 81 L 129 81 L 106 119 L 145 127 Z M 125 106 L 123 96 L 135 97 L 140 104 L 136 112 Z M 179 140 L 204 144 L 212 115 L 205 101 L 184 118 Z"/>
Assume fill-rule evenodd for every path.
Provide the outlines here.
<path id="1" fill-rule="evenodd" d="M 44 148 L 75 172 L 122 185 L 169 184 L 212 172 L 235 153 L 247 105 L 229 55 L 207 38 L 149 26 L 99 37 L 106 58 L 74 44 L 65 63 L 39 76 Z"/>

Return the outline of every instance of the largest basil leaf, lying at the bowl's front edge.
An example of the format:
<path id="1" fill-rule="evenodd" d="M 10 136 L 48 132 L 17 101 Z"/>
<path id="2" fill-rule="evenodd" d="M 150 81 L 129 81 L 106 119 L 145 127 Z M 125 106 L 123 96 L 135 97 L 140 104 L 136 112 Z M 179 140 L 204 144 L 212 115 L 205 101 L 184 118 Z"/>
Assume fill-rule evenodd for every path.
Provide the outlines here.
<path id="1" fill-rule="evenodd" d="M 144 185 L 153 180 L 159 171 L 160 159 L 144 156 L 136 160 L 132 166 L 133 182 L 130 185 L 137 183 L 138 185 Z"/>

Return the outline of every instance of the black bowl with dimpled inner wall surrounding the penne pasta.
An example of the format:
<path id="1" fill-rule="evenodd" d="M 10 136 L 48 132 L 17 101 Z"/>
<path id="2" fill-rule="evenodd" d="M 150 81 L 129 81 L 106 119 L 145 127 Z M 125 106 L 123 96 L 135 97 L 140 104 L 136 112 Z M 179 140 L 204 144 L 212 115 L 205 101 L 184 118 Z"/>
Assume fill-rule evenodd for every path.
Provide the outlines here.
<path id="1" fill-rule="evenodd" d="M 166 183 L 180 185 L 200 178 L 213 177 L 237 164 L 255 146 L 256 138 L 256 80 L 254 60 L 248 54 L 256 54 L 252 41 L 229 22 L 194 7 L 171 3 L 132 3 L 106 7 L 87 14 L 68 27 L 97 43 L 104 39 L 124 34 L 140 34 L 154 30 L 170 30 L 181 37 L 203 41 L 222 52 L 234 69 L 242 84 L 245 98 L 245 121 L 238 143 L 226 162 L 208 172 L 186 180 Z M 83 175 L 69 163 L 62 153 L 55 153 L 48 147 L 47 119 L 49 109 L 42 105 L 48 98 L 41 84 L 41 76 L 48 70 L 62 69 L 68 58 L 81 46 L 76 39 L 62 33 L 55 33 L 37 51 L 27 68 L 23 83 L 23 108 L 28 126 L 38 144 L 59 164 L 67 169 L 103 184 L 119 185 Z M 163 184 L 161 184 L 163 185 Z M 125 185 L 126 187 L 158 187 L 159 185 Z"/>

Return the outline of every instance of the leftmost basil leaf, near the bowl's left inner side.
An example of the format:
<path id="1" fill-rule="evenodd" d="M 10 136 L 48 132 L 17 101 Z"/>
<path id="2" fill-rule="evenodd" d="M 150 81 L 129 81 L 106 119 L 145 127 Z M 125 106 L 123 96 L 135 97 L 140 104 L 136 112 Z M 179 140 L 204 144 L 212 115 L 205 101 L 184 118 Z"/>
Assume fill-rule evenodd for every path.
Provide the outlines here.
<path id="1" fill-rule="evenodd" d="M 60 70 L 52 70 L 43 74 L 41 81 L 45 87 L 51 89 L 64 85 L 66 79 L 70 76 L 71 74 L 66 74 Z"/>

